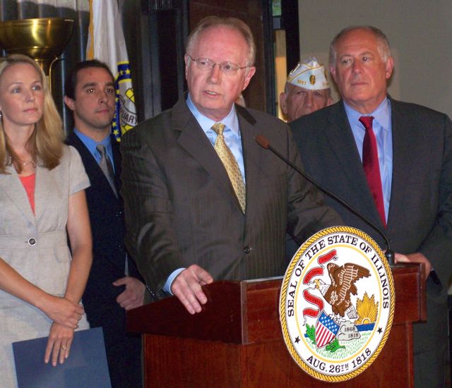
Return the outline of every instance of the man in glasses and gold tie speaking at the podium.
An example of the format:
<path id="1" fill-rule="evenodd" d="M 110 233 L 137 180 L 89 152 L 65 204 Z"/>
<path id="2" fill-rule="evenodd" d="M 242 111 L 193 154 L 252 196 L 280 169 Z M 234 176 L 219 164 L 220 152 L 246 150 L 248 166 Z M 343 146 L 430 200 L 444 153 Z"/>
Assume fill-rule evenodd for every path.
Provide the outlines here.
<path id="1" fill-rule="evenodd" d="M 155 298 L 172 292 L 190 313 L 213 279 L 282 275 L 286 227 L 302 241 L 340 223 L 315 188 L 255 143 L 264 135 L 301 166 L 286 124 L 234 105 L 254 56 L 241 20 L 201 20 L 186 47 L 188 95 L 121 142 L 126 242 Z"/>

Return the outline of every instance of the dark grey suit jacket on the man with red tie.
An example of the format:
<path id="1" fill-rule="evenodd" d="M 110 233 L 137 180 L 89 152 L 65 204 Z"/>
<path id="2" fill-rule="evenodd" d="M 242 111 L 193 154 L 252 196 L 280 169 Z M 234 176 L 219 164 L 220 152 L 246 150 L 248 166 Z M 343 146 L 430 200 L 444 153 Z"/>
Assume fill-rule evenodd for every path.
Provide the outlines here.
<path id="1" fill-rule="evenodd" d="M 386 235 L 395 252 L 422 252 L 441 284 L 427 282 L 429 332 L 415 351 L 445 341 L 446 291 L 452 273 L 452 123 L 445 114 L 391 99 L 393 181 Z M 371 197 L 343 102 L 291 123 L 306 171 L 384 230 Z M 379 234 L 343 205 L 326 199 L 345 224 L 362 229 L 383 249 Z M 439 307 L 441 306 L 441 307 Z M 436 343 L 435 343 L 436 342 Z"/>

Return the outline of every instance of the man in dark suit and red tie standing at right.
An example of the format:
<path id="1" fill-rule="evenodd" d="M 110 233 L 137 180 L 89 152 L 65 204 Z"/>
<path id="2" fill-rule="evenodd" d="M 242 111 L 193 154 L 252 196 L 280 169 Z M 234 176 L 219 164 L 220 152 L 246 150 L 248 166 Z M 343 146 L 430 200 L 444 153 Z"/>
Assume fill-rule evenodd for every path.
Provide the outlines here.
<path id="1" fill-rule="evenodd" d="M 342 100 L 291 123 L 295 141 L 307 172 L 385 231 L 396 262 L 424 263 L 427 323 L 415 325 L 415 386 L 442 387 L 452 267 L 451 120 L 387 95 L 393 58 L 376 28 L 340 32 L 330 61 Z M 359 217 L 335 200 L 327 203 L 386 248 Z"/>

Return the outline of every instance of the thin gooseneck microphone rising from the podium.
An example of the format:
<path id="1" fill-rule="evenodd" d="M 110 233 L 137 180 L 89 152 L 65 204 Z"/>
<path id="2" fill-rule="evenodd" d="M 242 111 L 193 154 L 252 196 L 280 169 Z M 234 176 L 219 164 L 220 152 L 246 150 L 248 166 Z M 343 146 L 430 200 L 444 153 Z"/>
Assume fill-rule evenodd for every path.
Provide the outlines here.
<path id="1" fill-rule="evenodd" d="M 283 162 L 285 162 L 286 164 L 288 164 L 289 166 L 292 167 L 292 169 L 294 169 L 295 171 L 297 171 L 298 174 L 302 175 L 307 181 L 311 182 L 314 186 L 316 186 L 316 188 L 319 188 L 319 190 L 323 191 L 323 193 L 325 193 L 326 195 L 328 195 L 328 197 L 333 198 L 334 200 L 338 201 L 341 205 L 345 206 L 348 210 L 350 210 L 350 212 L 352 212 L 353 214 L 355 214 L 357 217 L 359 217 L 360 219 L 362 219 L 362 221 L 364 221 L 366 224 L 368 224 L 372 229 L 374 229 L 375 231 L 377 231 L 381 237 L 383 237 L 384 241 L 386 242 L 386 259 L 389 262 L 389 265 L 393 266 L 394 265 L 394 251 L 391 250 L 391 244 L 389 243 L 389 239 L 388 237 L 386 237 L 386 234 L 379 228 L 379 226 L 377 226 L 376 224 L 374 224 L 374 222 L 371 222 L 370 219 L 368 219 L 367 217 L 365 217 L 363 214 L 361 214 L 360 212 L 358 212 L 355 207 L 352 207 L 352 205 L 350 205 L 350 203 L 346 202 L 345 200 L 343 200 L 342 198 L 338 197 L 338 195 L 335 195 L 335 193 L 333 193 L 332 191 L 328 190 L 327 188 L 323 187 L 319 182 L 315 181 L 314 178 L 311 178 L 311 176 L 309 176 L 308 174 L 306 174 L 304 171 L 302 171 L 302 169 L 299 169 L 297 166 L 295 166 L 295 164 L 293 164 L 292 162 L 290 162 L 289 159 L 287 159 L 286 157 L 284 157 L 282 154 L 280 154 L 277 150 L 275 150 L 271 145 L 270 142 L 268 142 L 268 140 L 262 136 L 262 135 L 257 135 L 254 140 L 256 140 L 256 143 L 258 143 L 258 145 L 260 145 L 262 148 L 266 149 L 266 150 L 270 150 L 271 152 L 273 152 L 273 154 L 275 154 L 278 158 L 280 158 Z"/>

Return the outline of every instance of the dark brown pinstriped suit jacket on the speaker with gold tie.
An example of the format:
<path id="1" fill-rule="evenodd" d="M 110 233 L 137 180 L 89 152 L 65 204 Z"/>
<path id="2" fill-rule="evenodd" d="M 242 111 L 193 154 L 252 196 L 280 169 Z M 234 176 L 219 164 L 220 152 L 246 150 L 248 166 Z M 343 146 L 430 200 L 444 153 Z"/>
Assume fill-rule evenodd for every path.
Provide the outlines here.
<path id="1" fill-rule="evenodd" d="M 300 165 L 285 123 L 241 107 L 237 114 L 246 214 L 184 99 L 136 126 L 121 141 L 126 243 L 155 293 L 174 269 L 191 264 L 207 269 L 214 279 L 282 275 L 287 226 L 302 241 L 340 223 L 310 184 L 255 143 L 256 135 L 264 135 Z"/>

